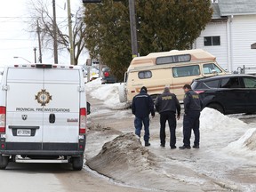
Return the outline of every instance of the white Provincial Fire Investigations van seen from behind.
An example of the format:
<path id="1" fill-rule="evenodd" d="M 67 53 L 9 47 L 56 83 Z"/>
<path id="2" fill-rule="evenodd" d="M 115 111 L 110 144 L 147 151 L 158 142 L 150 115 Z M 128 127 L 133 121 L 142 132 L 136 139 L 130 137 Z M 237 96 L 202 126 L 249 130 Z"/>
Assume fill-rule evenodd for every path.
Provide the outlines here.
<path id="1" fill-rule="evenodd" d="M 8 162 L 84 165 L 86 96 L 82 69 L 5 67 L 0 85 L 0 169 Z"/>

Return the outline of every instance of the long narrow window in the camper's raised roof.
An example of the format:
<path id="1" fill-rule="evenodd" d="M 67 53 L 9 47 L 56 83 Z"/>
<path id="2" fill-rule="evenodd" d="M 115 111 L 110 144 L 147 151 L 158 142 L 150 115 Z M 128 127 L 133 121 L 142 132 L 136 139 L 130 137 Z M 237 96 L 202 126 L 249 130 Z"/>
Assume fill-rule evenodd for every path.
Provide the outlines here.
<path id="1" fill-rule="evenodd" d="M 158 58 L 156 58 L 156 65 L 179 63 L 179 62 L 188 62 L 190 60 L 191 60 L 191 55 L 190 54 L 158 57 Z"/>

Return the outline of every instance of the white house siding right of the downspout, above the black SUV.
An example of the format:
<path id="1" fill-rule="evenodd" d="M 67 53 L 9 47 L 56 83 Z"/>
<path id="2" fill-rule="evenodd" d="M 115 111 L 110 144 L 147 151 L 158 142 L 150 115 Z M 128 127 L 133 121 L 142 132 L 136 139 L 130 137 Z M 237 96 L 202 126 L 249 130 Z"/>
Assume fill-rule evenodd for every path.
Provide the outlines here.
<path id="1" fill-rule="evenodd" d="M 256 73 L 256 15 L 234 16 L 230 29 L 233 70 L 245 66 L 245 73 Z"/>

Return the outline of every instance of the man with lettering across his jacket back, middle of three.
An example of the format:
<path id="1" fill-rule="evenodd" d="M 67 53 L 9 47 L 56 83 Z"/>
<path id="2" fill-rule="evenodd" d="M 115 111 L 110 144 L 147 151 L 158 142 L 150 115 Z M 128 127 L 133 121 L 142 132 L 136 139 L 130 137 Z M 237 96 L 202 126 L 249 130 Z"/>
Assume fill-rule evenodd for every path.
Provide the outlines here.
<path id="1" fill-rule="evenodd" d="M 164 87 L 164 92 L 156 98 L 156 111 L 160 114 L 160 146 L 165 147 L 165 124 L 168 121 L 170 129 L 170 147 L 176 148 L 176 111 L 180 119 L 180 102 L 169 87 Z"/>

